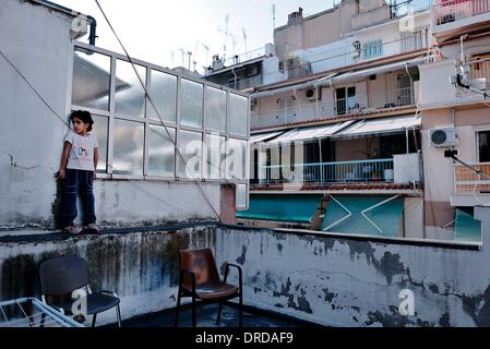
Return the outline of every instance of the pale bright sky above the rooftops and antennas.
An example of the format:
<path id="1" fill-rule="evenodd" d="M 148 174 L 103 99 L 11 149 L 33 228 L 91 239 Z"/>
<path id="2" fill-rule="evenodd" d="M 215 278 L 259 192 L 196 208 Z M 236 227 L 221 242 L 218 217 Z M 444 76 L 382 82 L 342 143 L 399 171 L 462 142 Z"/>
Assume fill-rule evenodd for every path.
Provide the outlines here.
<path id="1" fill-rule="evenodd" d="M 96 46 L 122 52 L 94 0 L 51 0 L 97 20 Z M 332 8 L 334 0 L 99 0 L 130 56 L 154 64 L 189 67 L 203 71 L 213 55 L 227 57 L 263 48 L 273 43 L 273 4 L 276 27 L 287 23 L 290 12 L 303 9 L 306 15 Z M 228 16 L 228 36 L 225 35 Z M 234 50 L 235 38 L 235 50 Z M 81 39 L 87 40 L 87 36 Z M 208 47 L 208 51 L 206 50 Z M 182 51 L 184 55 L 182 55 Z M 253 58 L 260 51 L 250 52 Z M 244 57 L 242 57 L 244 58 Z"/>

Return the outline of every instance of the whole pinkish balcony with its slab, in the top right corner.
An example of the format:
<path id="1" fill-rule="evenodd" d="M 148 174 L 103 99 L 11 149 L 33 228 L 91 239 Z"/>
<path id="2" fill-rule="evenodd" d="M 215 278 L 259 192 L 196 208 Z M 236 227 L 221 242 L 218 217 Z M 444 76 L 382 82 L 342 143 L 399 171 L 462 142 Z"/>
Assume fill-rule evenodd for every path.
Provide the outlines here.
<path id="1" fill-rule="evenodd" d="M 432 7 L 432 33 L 446 39 L 490 23 L 490 0 L 438 0 Z"/>

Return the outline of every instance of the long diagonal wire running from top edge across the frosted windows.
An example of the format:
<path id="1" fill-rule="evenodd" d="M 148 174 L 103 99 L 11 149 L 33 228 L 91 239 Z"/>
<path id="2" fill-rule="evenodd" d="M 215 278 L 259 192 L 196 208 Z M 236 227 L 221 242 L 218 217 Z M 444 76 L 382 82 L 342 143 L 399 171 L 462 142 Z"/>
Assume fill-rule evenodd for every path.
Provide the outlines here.
<path id="1" fill-rule="evenodd" d="M 162 116 L 160 116 L 160 113 L 159 113 L 159 111 L 158 111 L 158 108 L 157 108 L 156 105 L 153 103 L 153 98 L 152 98 L 152 96 L 151 96 L 148 89 L 146 88 L 146 86 L 145 86 L 143 80 L 141 79 L 140 74 L 138 73 L 136 67 L 135 67 L 133 60 L 131 59 L 131 56 L 129 55 L 129 52 L 128 52 L 128 50 L 126 49 L 124 45 L 122 44 L 122 41 L 120 40 L 119 36 L 117 35 L 117 33 L 116 33 L 116 31 L 115 31 L 112 24 L 110 23 L 109 19 L 107 17 L 107 15 L 106 15 L 105 11 L 103 10 L 103 8 L 101 8 L 100 3 L 98 2 L 98 0 L 94 0 L 94 1 L 95 1 L 96 5 L 98 7 L 98 9 L 100 10 L 100 13 L 101 13 L 101 15 L 104 16 L 104 19 L 106 20 L 107 25 L 109 26 L 110 31 L 112 32 L 112 34 L 115 35 L 115 37 L 116 37 L 116 39 L 118 40 L 119 45 L 121 46 L 122 50 L 124 51 L 126 57 L 128 58 L 129 62 L 131 63 L 131 67 L 133 68 L 134 73 L 136 74 L 138 80 L 140 81 L 141 86 L 144 88 L 145 94 L 146 94 L 146 97 L 148 98 L 150 104 L 153 106 L 153 108 L 154 108 L 156 115 L 158 116 L 158 119 L 159 119 L 160 122 L 162 122 L 162 125 L 164 127 L 165 131 L 167 132 L 167 135 L 168 135 L 169 140 L 171 140 L 172 143 L 176 144 L 174 137 L 171 136 L 170 132 L 168 131 L 167 125 L 166 125 L 165 122 L 164 122 L 164 119 L 162 118 Z M 183 157 L 183 155 L 180 153 L 180 149 L 179 149 L 177 146 L 175 146 L 175 149 L 176 149 L 176 153 L 179 155 L 180 159 L 183 161 L 183 164 L 184 164 L 184 166 L 186 166 L 186 169 L 187 169 L 188 173 L 189 173 L 190 177 L 191 177 L 191 180 L 196 184 L 196 186 L 198 186 L 200 193 L 202 194 L 202 196 L 204 197 L 204 200 L 207 202 L 208 206 L 213 209 L 214 214 L 216 215 L 216 218 L 217 218 L 220 222 L 223 222 L 222 217 L 220 217 L 219 214 L 217 213 L 217 210 L 216 210 L 216 208 L 214 207 L 214 205 L 213 205 L 213 203 L 211 202 L 211 200 L 207 197 L 206 193 L 204 193 L 204 190 L 202 189 L 201 184 L 200 184 L 199 181 L 192 176 L 192 171 L 190 171 L 189 166 L 188 166 L 188 163 L 186 161 L 186 158 Z"/>

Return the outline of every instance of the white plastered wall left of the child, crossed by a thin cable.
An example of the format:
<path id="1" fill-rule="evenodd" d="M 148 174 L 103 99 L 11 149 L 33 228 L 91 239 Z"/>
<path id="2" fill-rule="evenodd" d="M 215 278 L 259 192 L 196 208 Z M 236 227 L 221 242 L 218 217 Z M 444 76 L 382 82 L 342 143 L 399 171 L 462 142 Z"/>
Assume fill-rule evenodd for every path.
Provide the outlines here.
<path id="1" fill-rule="evenodd" d="M 19 0 L 0 3 L 2 51 L 63 118 L 70 26 L 70 17 L 43 7 Z M 47 219 L 65 129 L 1 57 L 0 71 L 0 222 L 10 217 Z M 12 167 L 9 154 L 31 169 Z M 17 214 L 10 216 L 13 212 Z"/>

